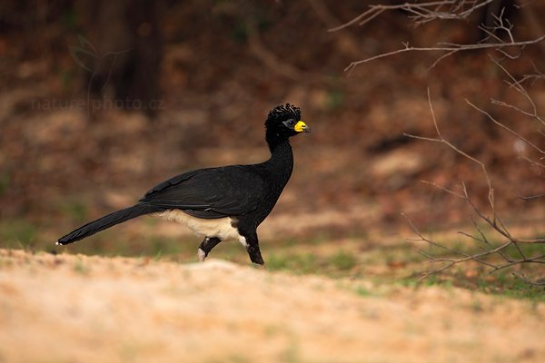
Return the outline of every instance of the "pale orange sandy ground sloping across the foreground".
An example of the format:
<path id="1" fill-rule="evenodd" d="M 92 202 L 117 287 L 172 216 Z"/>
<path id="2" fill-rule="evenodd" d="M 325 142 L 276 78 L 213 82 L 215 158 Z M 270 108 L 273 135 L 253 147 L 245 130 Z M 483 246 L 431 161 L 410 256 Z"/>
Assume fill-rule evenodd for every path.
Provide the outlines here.
<path id="1" fill-rule="evenodd" d="M 461 289 L 0 250 L 0 362 L 538 362 L 544 321 Z"/>

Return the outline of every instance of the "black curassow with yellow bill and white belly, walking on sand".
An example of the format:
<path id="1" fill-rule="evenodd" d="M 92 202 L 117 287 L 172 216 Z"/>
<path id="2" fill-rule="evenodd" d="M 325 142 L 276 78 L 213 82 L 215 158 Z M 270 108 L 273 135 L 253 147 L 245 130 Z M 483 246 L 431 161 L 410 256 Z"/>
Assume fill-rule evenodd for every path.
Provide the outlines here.
<path id="1" fill-rule="evenodd" d="M 96 232 L 142 215 L 187 226 L 203 238 L 197 255 L 204 261 L 223 240 L 238 240 L 250 260 L 263 265 L 257 227 L 272 211 L 292 176 L 290 138 L 311 128 L 301 109 L 280 104 L 265 120 L 265 142 L 271 156 L 255 164 L 237 164 L 183 172 L 161 182 L 132 207 L 114 211 L 66 234 L 57 245 L 82 240 Z"/>

